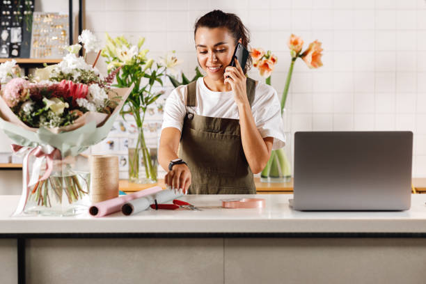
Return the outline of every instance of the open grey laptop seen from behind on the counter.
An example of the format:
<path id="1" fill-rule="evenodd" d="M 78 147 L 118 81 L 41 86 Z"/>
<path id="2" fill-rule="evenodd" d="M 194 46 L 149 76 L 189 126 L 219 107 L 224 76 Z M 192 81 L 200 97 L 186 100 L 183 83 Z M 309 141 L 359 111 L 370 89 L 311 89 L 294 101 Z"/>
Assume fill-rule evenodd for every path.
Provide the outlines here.
<path id="1" fill-rule="evenodd" d="M 413 132 L 296 132 L 295 210 L 408 210 Z"/>

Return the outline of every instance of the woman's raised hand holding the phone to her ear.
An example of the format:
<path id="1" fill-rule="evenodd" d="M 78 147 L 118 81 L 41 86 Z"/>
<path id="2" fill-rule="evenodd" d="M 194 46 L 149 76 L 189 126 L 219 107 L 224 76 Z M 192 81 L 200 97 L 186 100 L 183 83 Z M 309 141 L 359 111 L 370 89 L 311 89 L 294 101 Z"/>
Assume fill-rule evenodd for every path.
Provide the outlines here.
<path id="1" fill-rule="evenodd" d="M 247 90 L 246 90 L 246 75 L 239 65 L 239 62 L 235 60 L 235 67 L 228 66 L 225 68 L 223 76 L 225 77 L 225 84 L 230 84 L 234 91 L 234 100 L 238 106 L 248 104 Z M 228 77 L 229 76 L 229 77 Z M 228 78 L 227 78 L 228 77 Z"/>

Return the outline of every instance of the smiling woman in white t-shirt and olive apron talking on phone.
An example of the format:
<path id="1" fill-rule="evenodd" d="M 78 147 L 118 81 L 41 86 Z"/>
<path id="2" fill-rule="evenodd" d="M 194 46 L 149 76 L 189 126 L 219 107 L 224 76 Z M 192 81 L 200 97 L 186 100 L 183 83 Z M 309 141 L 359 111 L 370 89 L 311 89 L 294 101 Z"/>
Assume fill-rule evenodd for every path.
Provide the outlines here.
<path id="1" fill-rule="evenodd" d="M 239 17 L 214 10 L 195 24 L 198 63 L 207 74 L 166 100 L 159 163 L 168 188 L 184 194 L 255 194 L 253 173 L 284 145 L 281 111 L 271 86 L 246 78 L 237 42 L 248 46 Z M 247 66 L 251 63 L 248 59 Z"/>

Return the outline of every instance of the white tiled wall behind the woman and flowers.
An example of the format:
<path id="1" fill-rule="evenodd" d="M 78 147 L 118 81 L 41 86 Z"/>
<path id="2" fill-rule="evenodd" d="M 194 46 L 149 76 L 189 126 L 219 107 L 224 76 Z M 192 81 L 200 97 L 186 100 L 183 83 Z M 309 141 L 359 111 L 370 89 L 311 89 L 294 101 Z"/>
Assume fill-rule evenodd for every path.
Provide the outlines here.
<path id="1" fill-rule="evenodd" d="M 411 130 L 413 176 L 426 176 L 426 1 L 424 0 L 87 0 L 86 28 L 104 40 L 145 36 L 150 56 L 175 49 L 194 74 L 193 26 L 214 9 L 237 13 L 251 46 L 278 56 L 281 94 L 290 63 L 287 38 L 323 42 L 324 66 L 298 61 L 288 109 L 297 130 Z M 102 66 L 102 65 L 100 65 Z M 254 72 L 253 72 L 254 71 Z M 255 70 L 251 77 L 257 78 Z"/>

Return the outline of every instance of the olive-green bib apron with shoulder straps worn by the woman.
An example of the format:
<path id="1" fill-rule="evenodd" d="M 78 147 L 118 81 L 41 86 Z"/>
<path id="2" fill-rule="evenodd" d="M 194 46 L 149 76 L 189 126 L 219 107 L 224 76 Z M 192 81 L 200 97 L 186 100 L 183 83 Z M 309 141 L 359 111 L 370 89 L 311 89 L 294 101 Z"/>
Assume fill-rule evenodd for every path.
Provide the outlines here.
<path id="1" fill-rule="evenodd" d="M 247 78 L 248 102 L 255 81 Z M 196 106 L 196 81 L 187 86 L 187 106 Z M 187 113 L 182 127 L 180 157 L 191 170 L 189 194 L 255 194 L 253 173 L 242 148 L 238 119 Z"/>

